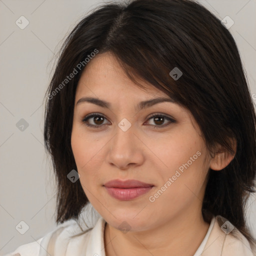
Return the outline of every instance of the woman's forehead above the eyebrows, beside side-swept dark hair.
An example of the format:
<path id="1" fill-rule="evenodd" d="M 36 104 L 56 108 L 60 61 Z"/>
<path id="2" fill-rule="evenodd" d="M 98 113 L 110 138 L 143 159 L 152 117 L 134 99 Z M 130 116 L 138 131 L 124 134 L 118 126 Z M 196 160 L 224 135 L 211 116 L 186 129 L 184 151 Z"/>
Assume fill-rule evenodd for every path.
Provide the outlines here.
<path id="1" fill-rule="evenodd" d="M 133 94 L 133 97 L 167 96 L 143 80 L 138 82 L 145 87 L 140 88 L 127 77 L 115 57 L 105 52 L 93 57 L 85 66 L 76 88 L 76 97 L 83 94 L 91 96 L 107 96 L 109 94 Z"/>

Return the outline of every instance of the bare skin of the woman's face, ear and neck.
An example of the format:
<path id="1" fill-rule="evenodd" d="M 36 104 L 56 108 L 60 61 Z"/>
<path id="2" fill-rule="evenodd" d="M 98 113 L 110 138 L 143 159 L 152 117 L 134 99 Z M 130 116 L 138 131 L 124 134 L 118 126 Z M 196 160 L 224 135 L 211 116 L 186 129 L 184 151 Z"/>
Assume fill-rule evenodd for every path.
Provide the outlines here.
<path id="1" fill-rule="evenodd" d="M 137 110 L 140 101 L 168 97 L 147 82 L 140 82 L 146 90 L 126 76 L 109 52 L 87 63 L 76 89 L 71 133 L 79 180 L 87 198 L 106 221 L 106 256 L 192 256 L 209 227 L 201 213 L 207 171 L 209 167 L 221 170 L 233 155 L 219 147 L 211 158 L 192 114 L 177 103 L 160 102 Z M 76 104 L 82 97 L 102 99 L 110 106 Z M 91 117 L 83 122 L 90 113 L 103 118 Z M 154 113 L 174 121 L 149 118 Z M 131 123 L 126 131 L 118 126 L 123 118 Z M 200 156 L 158 198 L 149 201 L 149 196 L 197 151 Z M 103 186 L 116 178 L 137 179 L 154 186 L 132 200 L 118 200 Z M 128 232 L 121 230 L 121 223 Z"/>

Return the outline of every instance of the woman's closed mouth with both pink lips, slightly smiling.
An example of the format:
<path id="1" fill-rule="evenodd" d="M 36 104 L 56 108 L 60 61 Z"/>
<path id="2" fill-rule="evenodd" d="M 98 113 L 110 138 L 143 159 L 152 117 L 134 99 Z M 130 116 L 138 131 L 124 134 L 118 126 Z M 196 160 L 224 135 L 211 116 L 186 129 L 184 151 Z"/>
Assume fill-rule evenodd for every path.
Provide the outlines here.
<path id="1" fill-rule="evenodd" d="M 103 185 L 108 194 L 119 200 L 131 200 L 147 193 L 154 185 L 138 180 L 110 180 Z"/>

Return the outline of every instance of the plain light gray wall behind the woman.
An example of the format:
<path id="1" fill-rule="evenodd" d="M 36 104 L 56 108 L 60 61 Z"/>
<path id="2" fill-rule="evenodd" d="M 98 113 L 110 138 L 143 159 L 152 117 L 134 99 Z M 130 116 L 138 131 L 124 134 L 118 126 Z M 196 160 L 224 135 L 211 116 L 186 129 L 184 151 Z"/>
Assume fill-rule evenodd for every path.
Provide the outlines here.
<path id="1" fill-rule="evenodd" d="M 234 20 L 229 31 L 256 98 L 256 1 L 199 2 L 218 18 L 228 15 Z M 43 147 L 42 100 L 63 38 L 99 3 L 103 1 L 0 0 L 0 255 L 56 226 L 54 176 Z M 29 21 L 24 29 L 15 23 L 21 15 Z M 16 126 L 21 118 L 28 123 L 23 131 Z M 255 195 L 246 213 L 256 237 Z M 15 228 L 21 220 L 29 226 L 24 234 Z"/>

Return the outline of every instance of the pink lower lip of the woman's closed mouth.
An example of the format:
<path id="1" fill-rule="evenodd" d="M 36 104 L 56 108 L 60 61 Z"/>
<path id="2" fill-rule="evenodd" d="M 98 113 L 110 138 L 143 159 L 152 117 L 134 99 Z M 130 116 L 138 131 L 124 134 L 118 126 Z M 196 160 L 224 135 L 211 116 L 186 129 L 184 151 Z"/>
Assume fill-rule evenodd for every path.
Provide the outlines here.
<path id="1" fill-rule="evenodd" d="M 131 187 L 131 188 L 120 188 L 120 187 L 106 187 L 107 192 L 116 199 L 119 200 L 131 200 L 139 195 L 147 193 L 153 186 L 147 187 Z"/>

